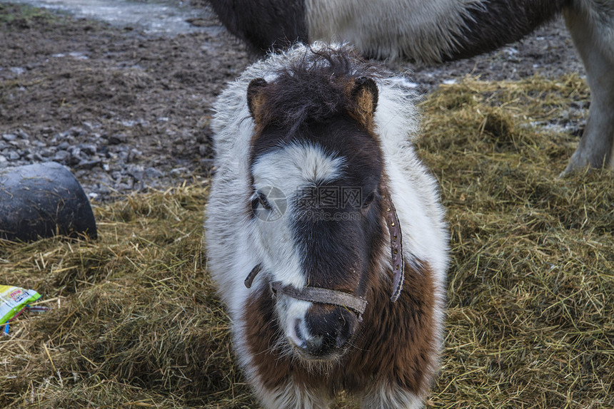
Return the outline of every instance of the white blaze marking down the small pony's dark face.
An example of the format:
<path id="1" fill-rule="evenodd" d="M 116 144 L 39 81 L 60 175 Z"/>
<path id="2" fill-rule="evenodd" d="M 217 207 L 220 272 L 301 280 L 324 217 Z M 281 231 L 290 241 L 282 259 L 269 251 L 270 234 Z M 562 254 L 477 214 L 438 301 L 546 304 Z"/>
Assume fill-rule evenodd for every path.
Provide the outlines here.
<path id="1" fill-rule="evenodd" d="M 319 145 L 292 144 L 260 155 L 252 166 L 253 184 L 256 191 L 281 192 L 287 198 L 285 212 L 281 217 L 257 219 L 258 235 L 262 247 L 263 270 L 273 281 L 281 281 L 297 289 L 306 286 L 303 273 L 303 250 L 297 248 L 293 239 L 293 220 L 296 209 L 293 197 L 307 187 L 316 186 L 341 176 L 345 160 L 325 152 Z M 271 190 L 271 187 L 274 189 Z M 279 198 L 271 198 L 271 200 Z M 271 203 L 271 206 L 276 204 Z M 277 303 L 281 328 L 286 337 L 300 346 L 301 338 L 308 337 L 305 322 L 306 311 L 311 302 L 293 299 L 283 294 Z"/>

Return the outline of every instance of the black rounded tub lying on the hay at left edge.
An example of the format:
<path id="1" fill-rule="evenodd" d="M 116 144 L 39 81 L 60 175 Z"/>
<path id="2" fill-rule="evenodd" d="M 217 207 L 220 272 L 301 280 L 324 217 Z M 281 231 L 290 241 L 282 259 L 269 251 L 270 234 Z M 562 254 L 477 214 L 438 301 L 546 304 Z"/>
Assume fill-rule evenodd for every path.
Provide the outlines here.
<path id="1" fill-rule="evenodd" d="M 0 239 L 56 234 L 96 239 L 96 219 L 79 182 L 56 162 L 0 170 Z"/>

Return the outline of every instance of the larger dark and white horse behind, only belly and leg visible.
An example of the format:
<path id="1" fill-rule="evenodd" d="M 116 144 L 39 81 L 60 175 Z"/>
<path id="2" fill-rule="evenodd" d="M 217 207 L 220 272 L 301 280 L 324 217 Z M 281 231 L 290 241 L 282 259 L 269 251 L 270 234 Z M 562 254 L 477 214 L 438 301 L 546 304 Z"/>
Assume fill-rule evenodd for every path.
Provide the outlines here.
<path id="1" fill-rule="evenodd" d="M 253 48 L 347 41 L 365 56 L 436 63 L 518 41 L 563 14 L 586 68 L 588 121 L 565 172 L 614 169 L 614 0 L 210 0 Z"/>

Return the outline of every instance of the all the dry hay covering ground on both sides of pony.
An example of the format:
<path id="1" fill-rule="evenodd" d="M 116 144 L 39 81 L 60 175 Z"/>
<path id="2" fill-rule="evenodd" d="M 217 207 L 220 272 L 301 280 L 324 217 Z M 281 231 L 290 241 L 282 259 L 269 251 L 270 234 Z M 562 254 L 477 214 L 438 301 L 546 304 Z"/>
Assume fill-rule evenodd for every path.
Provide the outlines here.
<path id="1" fill-rule="evenodd" d="M 614 406 L 614 178 L 558 178 L 584 81 L 471 78 L 423 104 L 451 227 L 446 348 L 428 406 Z M 554 124 L 545 126 L 545 124 Z M 256 408 L 206 273 L 207 187 L 96 208 L 97 242 L 1 244 L 54 309 L 0 338 L 0 407 Z M 336 408 L 355 408 L 345 398 Z"/>

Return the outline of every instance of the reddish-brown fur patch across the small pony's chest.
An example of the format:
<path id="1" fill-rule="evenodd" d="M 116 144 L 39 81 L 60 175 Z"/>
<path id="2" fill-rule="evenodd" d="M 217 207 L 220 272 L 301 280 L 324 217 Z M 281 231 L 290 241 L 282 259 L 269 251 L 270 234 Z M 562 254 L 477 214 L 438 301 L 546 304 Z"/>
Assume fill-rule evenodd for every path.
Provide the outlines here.
<path id="1" fill-rule="evenodd" d="M 381 268 L 376 264 L 373 269 Z M 306 388 L 359 393 L 372 383 L 392 380 L 417 395 L 426 393 L 437 365 L 432 272 L 428 264 L 417 262 L 406 264 L 405 274 L 406 284 L 393 304 L 390 282 L 378 279 L 373 271 L 367 296 L 369 307 L 363 318 L 367 324 L 356 335 L 353 348 L 331 367 L 313 366 L 308 371 L 293 358 L 278 355 L 275 346 L 281 333 L 271 325 L 275 321 L 271 294 L 254 293 L 245 310 L 246 338 L 266 387 L 273 389 L 293 379 Z"/>

